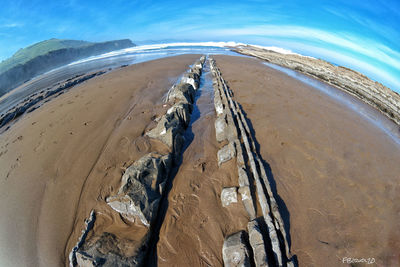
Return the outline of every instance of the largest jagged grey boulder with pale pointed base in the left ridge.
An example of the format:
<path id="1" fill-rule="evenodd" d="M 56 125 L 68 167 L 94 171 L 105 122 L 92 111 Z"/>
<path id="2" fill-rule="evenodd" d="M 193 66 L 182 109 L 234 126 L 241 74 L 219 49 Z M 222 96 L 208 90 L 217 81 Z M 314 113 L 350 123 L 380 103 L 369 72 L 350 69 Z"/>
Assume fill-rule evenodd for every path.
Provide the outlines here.
<path id="1" fill-rule="evenodd" d="M 143 156 L 125 171 L 118 195 L 108 197 L 107 204 L 127 220 L 135 222 L 139 219 L 145 226 L 150 226 L 158 211 L 162 185 L 170 168 L 170 154 Z"/>

